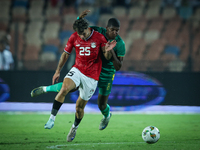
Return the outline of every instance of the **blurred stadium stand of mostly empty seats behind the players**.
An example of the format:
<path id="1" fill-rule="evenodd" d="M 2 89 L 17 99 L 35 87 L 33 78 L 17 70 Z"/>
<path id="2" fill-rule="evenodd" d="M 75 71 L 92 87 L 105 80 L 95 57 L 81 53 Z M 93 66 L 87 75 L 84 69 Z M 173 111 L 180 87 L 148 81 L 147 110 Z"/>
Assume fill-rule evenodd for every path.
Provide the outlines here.
<path id="1" fill-rule="evenodd" d="M 74 20 L 90 9 L 90 25 L 120 20 L 123 71 L 200 71 L 199 6 L 200 0 L 1 0 L 0 38 L 9 39 L 1 49 L 13 56 L 9 69 L 54 70 Z M 0 66 L 3 60 L 0 53 Z"/>

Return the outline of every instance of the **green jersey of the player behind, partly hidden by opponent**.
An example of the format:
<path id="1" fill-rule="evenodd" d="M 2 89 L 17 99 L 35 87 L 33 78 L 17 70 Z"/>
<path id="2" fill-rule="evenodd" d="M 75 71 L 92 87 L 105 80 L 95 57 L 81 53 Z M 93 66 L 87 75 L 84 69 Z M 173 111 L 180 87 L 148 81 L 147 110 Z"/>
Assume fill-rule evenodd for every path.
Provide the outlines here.
<path id="1" fill-rule="evenodd" d="M 105 38 L 107 39 L 105 28 L 97 27 L 97 26 L 91 26 L 91 28 L 94 29 L 95 31 L 103 34 L 105 36 Z M 124 41 L 121 39 L 121 37 L 119 35 L 116 36 L 115 40 L 117 42 L 116 46 L 113 49 L 115 51 L 115 54 L 117 55 L 117 57 L 124 57 L 124 55 L 125 55 Z M 115 72 L 116 72 L 116 70 L 113 66 L 112 60 L 107 60 L 103 55 L 102 56 L 102 69 L 101 69 L 101 74 L 100 74 L 99 80 L 113 78 L 113 75 L 115 74 Z"/>

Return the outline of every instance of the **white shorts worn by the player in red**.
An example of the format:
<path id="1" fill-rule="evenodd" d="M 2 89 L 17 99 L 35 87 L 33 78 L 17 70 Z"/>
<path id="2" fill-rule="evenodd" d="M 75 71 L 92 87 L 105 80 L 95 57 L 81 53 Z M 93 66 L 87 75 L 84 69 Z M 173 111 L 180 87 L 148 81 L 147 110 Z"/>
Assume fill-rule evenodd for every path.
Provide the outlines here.
<path id="1" fill-rule="evenodd" d="M 76 84 L 76 87 L 79 86 L 79 95 L 83 100 L 86 101 L 88 101 L 92 97 L 97 88 L 97 80 L 85 76 L 75 67 L 71 68 L 65 78 L 72 79 Z"/>

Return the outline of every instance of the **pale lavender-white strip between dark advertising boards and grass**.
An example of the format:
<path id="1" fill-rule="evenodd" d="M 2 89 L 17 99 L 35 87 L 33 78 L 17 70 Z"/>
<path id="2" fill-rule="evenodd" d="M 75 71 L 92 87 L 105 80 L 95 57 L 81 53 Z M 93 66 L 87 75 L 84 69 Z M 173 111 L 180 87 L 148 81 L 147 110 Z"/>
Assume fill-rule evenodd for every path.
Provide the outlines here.
<path id="1" fill-rule="evenodd" d="M 74 113 L 76 104 L 65 103 L 60 109 L 60 113 Z M 134 107 L 134 106 L 133 106 Z M 0 103 L 0 112 L 50 112 L 52 103 Z M 100 114 L 98 108 L 86 106 L 85 113 Z M 152 105 L 137 110 L 123 111 L 112 110 L 119 114 L 195 114 L 200 113 L 200 106 L 173 106 L 173 105 Z"/>

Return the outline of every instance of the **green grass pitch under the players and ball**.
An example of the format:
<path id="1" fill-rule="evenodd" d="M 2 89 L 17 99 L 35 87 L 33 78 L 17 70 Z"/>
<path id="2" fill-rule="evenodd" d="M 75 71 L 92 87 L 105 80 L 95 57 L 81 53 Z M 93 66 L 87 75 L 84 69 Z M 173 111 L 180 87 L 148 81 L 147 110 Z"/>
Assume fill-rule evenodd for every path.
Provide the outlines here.
<path id="1" fill-rule="evenodd" d="M 200 150 L 199 114 L 117 114 L 100 131 L 101 114 L 85 114 L 76 138 L 66 142 L 74 114 L 58 113 L 51 130 L 44 129 L 50 115 L 0 113 L 0 150 Z M 160 140 L 147 144 L 142 130 L 154 125 Z"/>

